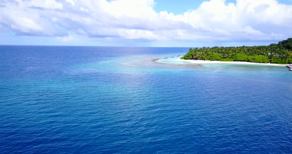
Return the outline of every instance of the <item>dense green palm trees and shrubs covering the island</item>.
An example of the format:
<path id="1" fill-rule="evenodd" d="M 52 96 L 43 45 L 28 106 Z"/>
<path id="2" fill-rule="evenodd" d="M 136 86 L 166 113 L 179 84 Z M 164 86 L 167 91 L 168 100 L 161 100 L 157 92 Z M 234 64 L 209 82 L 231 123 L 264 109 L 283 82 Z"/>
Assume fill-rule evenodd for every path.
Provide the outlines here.
<path id="1" fill-rule="evenodd" d="M 292 38 L 269 46 L 191 48 L 181 59 L 292 64 Z"/>

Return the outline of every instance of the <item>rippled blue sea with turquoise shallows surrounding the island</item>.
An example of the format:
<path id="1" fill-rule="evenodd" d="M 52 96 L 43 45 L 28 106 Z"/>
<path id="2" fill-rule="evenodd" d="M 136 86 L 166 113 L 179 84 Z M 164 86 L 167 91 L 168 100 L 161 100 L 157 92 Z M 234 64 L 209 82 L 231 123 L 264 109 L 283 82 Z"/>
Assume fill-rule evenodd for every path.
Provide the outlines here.
<path id="1" fill-rule="evenodd" d="M 187 51 L 0 46 L 0 154 L 292 153 L 292 72 Z"/>

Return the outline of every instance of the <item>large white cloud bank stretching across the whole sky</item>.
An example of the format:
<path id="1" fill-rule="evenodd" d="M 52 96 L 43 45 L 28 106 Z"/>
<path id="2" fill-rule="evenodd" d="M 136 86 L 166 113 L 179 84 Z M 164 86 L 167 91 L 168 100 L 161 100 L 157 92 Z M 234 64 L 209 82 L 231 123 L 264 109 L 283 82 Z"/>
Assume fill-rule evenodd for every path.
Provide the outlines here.
<path id="1" fill-rule="evenodd" d="M 266 40 L 292 36 L 292 5 L 277 0 L 204 1 L 183 14 L 156 12 L 153 0 L 0 1 L 0 24 L 18 35 L 73 40 Z"/>

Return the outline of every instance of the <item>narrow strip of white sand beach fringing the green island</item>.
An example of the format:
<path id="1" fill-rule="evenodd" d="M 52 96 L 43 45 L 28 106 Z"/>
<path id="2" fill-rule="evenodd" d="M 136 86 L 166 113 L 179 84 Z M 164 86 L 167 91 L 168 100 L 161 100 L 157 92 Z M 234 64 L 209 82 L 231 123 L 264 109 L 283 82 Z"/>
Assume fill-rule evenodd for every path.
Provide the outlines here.
<path id="1" fill-rule="evenodd" d="M 186 59 L 179 59 L 179 58 L 175 60 L 189 62 L 192 64 L 244 64 L 244 65 L 286 66 L 285 64 L 251 63 L 251 62 L 221 62 L 221 61 L 209 61 L 209 60 L 186 60 Z"/>

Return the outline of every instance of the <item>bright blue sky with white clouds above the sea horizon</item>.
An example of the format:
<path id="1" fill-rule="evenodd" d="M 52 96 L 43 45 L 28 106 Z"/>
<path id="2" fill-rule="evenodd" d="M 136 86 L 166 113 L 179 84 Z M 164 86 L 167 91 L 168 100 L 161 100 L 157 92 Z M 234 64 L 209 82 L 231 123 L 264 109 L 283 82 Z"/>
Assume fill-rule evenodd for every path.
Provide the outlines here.
<path id="1" fill-rule="evenodd" d="M 292 38 L 292 0 L 0 0 L 0 44 L 202 47 Z"/>

